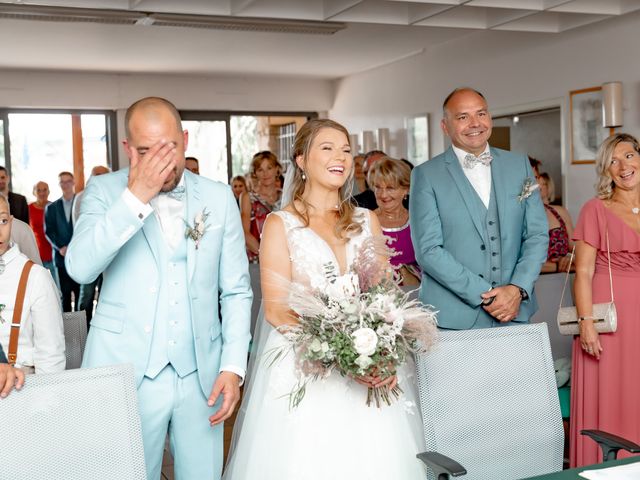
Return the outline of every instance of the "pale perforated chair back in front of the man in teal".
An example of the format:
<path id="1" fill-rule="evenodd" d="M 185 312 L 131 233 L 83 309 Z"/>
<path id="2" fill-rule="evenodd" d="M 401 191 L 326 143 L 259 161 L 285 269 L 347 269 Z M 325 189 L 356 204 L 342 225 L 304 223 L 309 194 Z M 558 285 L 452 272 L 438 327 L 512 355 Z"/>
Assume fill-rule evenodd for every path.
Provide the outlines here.
<path id="1" fill-rule="evenodd" d="M 462 464 L 465 480 L 562 469 L 546 324 L 441 331 L 432 352 L 418 355 L 417 369 L 426 450 Z"/>

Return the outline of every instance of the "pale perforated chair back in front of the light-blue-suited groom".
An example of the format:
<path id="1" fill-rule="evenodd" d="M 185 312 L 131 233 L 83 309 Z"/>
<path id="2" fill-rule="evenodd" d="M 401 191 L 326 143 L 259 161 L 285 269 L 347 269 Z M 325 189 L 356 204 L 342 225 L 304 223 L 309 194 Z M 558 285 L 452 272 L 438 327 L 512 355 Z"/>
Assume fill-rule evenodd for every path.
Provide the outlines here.
<path id="1" fill-rule="evenodd" d="M 29 375 L 0 419 L 1 478 L 146 479 L 130 365 Z"/>

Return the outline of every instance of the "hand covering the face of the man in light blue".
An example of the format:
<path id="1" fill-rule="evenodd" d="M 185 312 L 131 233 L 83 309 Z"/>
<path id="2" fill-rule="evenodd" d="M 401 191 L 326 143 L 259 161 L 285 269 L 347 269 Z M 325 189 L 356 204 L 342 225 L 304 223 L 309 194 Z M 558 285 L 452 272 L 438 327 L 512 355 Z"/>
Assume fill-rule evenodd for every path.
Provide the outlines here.
<path id="1" fill-rule="evenodd" d="M 128 148 L 131 166 L 127 186 L 138 200 L 149 203 L 176 168 L 176 145 L 160 140 L 143 153 L 131 145 Z"/>

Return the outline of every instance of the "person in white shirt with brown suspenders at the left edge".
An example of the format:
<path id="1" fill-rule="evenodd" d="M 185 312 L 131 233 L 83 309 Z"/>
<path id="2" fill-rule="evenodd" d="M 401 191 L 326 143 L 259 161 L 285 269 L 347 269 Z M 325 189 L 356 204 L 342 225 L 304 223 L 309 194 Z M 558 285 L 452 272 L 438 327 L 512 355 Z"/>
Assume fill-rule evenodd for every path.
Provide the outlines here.
<path id="1" fill-rule="evenodd" d="M 13 217 L 9 204 L 0 196 L 0 345 L 7 357 L 16 355 L 15 366 L 25 373 L 53 373 L 64 370 L 64 329 L 58 292 L 49 272 L 33 265 L 22 304 L 17 350 L 9 350 L 13 312 L 23 267 L 28 259 L 10 242 Z"/>

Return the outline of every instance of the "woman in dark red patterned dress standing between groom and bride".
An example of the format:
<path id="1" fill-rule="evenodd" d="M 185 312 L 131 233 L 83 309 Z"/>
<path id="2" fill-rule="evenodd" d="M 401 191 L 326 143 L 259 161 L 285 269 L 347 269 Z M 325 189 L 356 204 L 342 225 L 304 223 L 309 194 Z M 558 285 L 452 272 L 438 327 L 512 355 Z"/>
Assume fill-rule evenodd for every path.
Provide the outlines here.
<path id="1" fill-rule="evenodd" d="M 240 195 L 240 216 L 251 263 L 258 263 L 260 236 L 267 215 L 280 210 L 282 190 L 276 182 L 281 170 L 278 157 L 269 151 L 258 152 L 251 160 L 253 191 Z"/>

